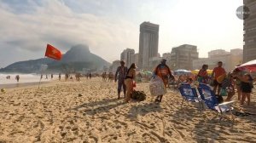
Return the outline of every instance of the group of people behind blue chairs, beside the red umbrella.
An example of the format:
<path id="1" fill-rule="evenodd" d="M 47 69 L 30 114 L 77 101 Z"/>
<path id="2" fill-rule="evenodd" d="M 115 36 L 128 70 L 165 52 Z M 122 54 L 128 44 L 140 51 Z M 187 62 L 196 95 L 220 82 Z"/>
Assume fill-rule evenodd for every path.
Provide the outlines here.
<path id="1" fill-rule="evenodd" d="M 198 83 L 212 85 L 215 94 L 227 94 L 227 101 L 231 100 L 237 92 L 237 100 L 240 100 L 241 105 L 244 104 L 246 99 L 247 105 L 250 105 L 253 77 L 249 72 L 240 71 L 239 69 L 226 72 L 222 61 L 218 62 L 218 66 L 213 69 L 211 76 L 207 74 L 207 69 L 207 65 L 202 66 L 196 78 Z"/>

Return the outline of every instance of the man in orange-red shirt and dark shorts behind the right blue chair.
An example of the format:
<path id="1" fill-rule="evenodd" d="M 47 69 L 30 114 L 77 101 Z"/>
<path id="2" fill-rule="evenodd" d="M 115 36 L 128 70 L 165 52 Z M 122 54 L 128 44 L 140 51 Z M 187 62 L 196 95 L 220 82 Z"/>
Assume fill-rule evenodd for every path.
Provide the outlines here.
<path id="1" fill-rule="evenodd" d="M 220 89 L 221 89 L 221 83 L 218 83 L 218 80 L 217 80 L 218 77 L 223 76 L 226 73 L 222 66 L 223 66 L 223 62 L 218 61 L 218 66 L 215 67 L 212 71 L 214 94 L 216 94 L 217 88 L 218 88 L 218 94 L 220 93 Z"/>

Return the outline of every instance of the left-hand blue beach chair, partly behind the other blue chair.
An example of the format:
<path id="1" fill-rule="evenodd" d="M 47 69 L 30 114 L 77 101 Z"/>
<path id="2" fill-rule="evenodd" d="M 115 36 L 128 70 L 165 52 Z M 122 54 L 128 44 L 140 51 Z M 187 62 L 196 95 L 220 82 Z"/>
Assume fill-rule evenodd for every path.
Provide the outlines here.
<path id="1" fill-rule="evenodd" d="M 188 103 L 189 102 L 198 103 L 199 109 L 203 109 L 201 99 L 198 96 L 195 88 L 192 88 L 189 84 L 181 84 L 178 89 L 180 91 L 180 94 L 183 97 L 183 102 L 187 101 Z M 182 102 L 181 107 L 183 106 L 183 102 Z"/>

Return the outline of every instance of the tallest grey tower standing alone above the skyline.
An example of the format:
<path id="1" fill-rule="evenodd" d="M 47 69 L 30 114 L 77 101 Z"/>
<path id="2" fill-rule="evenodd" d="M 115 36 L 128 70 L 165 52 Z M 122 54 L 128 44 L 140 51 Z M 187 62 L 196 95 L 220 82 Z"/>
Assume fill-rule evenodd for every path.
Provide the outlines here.
<path id="1" fill-rule="evenodd" d="M 149 59 L 158 56 L 159 25 L 143 22 L 140 25 L 139 68 L 147 69 Z"/>

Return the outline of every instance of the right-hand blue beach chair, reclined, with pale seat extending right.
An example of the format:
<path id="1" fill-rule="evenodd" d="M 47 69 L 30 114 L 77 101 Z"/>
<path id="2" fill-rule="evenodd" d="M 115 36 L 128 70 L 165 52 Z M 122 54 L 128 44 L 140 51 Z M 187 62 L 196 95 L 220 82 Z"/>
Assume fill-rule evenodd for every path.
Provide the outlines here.
<path id="1" fill-rule="evenodd" d="M 212 89 L 207 84 L 199 84 L 198 92 L 201 95 L 201 100 L 205 102 L 207 107 L 209 109 L 212 109 L 212 111 L 217 112 L 217 115 L 220 114 L 219 122 L 224 117 L 224 114 L 227 112 L 230 112 L 230 115 L 233 119 L 233 122 L 235 120 L 234 115 L 232 114 L 233 107 L 231 106 L 235 101 L 230 102 L 224 102 L 221 104 L 218 104 L 218 100 L 216 98 L 216 95 L 212 91 Z"/>

